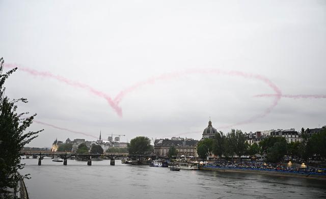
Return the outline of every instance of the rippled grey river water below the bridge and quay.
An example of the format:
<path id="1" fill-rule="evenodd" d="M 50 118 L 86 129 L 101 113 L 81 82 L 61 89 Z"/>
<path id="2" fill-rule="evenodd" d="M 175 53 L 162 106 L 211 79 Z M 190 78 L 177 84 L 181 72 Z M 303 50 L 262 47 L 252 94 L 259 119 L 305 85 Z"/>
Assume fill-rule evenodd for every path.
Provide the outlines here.
<path id="1" fill-rule="evenodd" d="M 326 181 L 201 170 L 170 171 L 110 160 L 52 162 L 23 159 L 31 199 L 55 198 L 325 198 Z"/>

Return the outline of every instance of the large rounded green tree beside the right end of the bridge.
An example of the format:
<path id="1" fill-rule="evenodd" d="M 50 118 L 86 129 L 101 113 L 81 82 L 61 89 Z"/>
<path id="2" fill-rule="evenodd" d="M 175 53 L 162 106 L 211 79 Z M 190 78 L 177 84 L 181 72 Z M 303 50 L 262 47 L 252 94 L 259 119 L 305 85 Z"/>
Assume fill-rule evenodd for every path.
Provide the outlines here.
<path id="1" fill-rule="evenodd" d="M 130 155 L 144 155 L 146 152 L 152 152 L 151 140 L 148 137 L 138 136 L 130 140 L 127 144 Z"/>

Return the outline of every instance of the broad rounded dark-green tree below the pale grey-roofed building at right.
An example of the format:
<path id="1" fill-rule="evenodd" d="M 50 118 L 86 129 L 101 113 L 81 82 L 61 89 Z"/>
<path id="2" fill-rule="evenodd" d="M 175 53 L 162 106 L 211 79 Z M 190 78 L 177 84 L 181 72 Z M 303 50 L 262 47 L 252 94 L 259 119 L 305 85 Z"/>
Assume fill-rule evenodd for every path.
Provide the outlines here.
<path id="1" fill-rule="evenodd" d="M 284 137 L 267 137 L 259 142 L 259 146 L 266 154 L 268 162 L 281 161 L 287 152 L 287 142 Z"/>

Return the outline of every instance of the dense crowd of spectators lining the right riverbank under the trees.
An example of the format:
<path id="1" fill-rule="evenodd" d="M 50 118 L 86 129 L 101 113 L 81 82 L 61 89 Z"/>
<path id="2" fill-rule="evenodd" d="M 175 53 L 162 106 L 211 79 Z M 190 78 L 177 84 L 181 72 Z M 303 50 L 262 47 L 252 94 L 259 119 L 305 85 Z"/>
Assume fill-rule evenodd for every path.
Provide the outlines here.
<path id="1" fill-rule="evenodd" d="M 214 163 L 206 163 L 205 166 L 217 168 L 240 168 L 240 169 L 254 169 L 254 170 L 272 170 L 280 172 L 293 172 L 293 173 L 318 173 L 326 174 L 323 168 L 315 167 L 293 167 L 290 165 L 284 166 L 282 163 L 265 163 L 259 161 L 246 161 L 246 162 L 231 162 L 231 161 L 215 161 Z"/>

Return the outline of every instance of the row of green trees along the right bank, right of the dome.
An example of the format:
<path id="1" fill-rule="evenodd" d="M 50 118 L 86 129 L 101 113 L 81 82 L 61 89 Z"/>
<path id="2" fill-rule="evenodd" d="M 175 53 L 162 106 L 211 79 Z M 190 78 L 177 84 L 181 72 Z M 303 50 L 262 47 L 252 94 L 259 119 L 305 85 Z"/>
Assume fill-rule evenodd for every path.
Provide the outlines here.
<path id="1" fill-rule="evenodd" d="M 255 158 L 260 154 L 267 162 L 280 162 L 284 156 L 291 156 L 307 161 L 308 158 L 319 156 L 326 158 L 326 126 L 319 133 L 308 134 L 302 131 L 302 142 L 287 143 L 285 137 L 269 136 L 259 142 L 249 145 L 241 130 L 231 129 L 227 134 L 222 131 L 213 138 L 205 138 L 197 145 L 197 153 L 200 158 L 215 155 L 220 158 L 234 158 L 240 160 L 242 155 Z"/>

